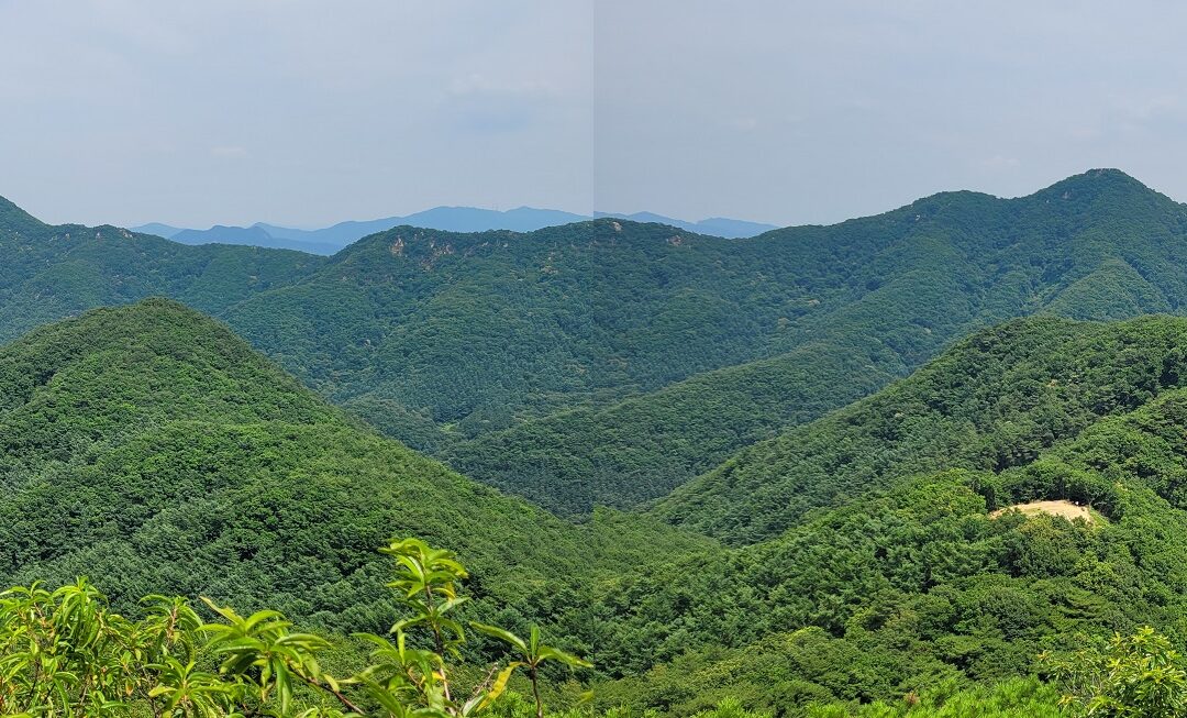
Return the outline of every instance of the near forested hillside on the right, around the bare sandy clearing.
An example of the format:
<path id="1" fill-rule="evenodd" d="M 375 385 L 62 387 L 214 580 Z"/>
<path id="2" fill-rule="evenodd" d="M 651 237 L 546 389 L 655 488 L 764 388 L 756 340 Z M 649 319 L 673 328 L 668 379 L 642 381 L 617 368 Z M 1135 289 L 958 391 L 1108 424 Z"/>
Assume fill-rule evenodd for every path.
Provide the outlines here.
<path id="1" fill-rule="evenodd" d="M 1183 426 L 1187 319 L 978 332 L 661 503 L 748 545 L 605 598 L 603 646 L 659 665 L 620 666 L 599 700 L 801 716 L 1043 674 L 1040 653 L 1140 625 L 1187 646 Z M 1092 521 L 1001 512 L 1033 501 Z"/>

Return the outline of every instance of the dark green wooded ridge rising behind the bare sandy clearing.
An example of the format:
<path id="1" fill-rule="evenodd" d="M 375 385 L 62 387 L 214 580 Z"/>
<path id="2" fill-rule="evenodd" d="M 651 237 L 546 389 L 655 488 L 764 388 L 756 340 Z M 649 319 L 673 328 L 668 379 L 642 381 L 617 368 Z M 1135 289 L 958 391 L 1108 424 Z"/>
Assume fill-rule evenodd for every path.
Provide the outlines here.
<path id="1" fill-rule="evenodd" d="M 1015 320 L 912 377 L 755 445 L 655 509 L 745 544 L 806 512 L 944 468 L 1002 471 L 1187 380 L 1187 320 Z"/>

